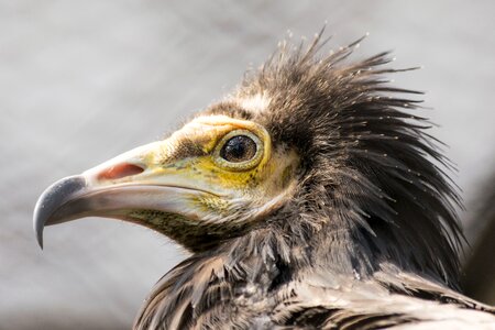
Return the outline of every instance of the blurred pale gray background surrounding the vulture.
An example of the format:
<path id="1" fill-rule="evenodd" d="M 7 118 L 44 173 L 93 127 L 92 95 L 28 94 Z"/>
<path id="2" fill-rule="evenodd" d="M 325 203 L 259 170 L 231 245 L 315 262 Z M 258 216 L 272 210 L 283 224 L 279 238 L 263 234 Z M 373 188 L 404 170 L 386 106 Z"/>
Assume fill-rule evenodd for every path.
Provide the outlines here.
<path id="1" fill-rule="evenodd" d="M 141 227 L 86 219 L 34 240 L 54 180 L 160 139 L 219 99 L 294 32 L 327 21 L 354 58 L 394 50 L 424 65 L 395 84 L 427 92 L 458 164 L 472 242 L 495 160 L 495 2 L 0 0 L 0 329 L 125 329 L 185 255 Z M 488 187 L 486 187 L 488 186 Z M 493 263 L 493 262 L 491 262 Z"/>

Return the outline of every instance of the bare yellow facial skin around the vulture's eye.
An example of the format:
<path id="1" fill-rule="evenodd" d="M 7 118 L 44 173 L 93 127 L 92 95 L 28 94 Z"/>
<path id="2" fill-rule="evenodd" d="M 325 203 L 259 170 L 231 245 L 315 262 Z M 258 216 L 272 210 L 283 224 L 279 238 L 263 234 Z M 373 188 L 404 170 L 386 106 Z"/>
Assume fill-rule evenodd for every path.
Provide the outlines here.
<path id="1" fill-rule="evenodd" d="M 246 162 L 229 163 L 219 151 L 239 134 L 257 139 L 257 152 Z M 210 193 L 186 197 L 185 207 L 195 210 L 195 220 L 218 223 L 254 221 L 279 207 L 294 188 L 297 156 L 273 153 L 268 133 L 254 122 L 212 116 L 199 117 L 155 143 L 142 162 L 146 170 L 140 182 L 160 185 L 173 179 Z"/>

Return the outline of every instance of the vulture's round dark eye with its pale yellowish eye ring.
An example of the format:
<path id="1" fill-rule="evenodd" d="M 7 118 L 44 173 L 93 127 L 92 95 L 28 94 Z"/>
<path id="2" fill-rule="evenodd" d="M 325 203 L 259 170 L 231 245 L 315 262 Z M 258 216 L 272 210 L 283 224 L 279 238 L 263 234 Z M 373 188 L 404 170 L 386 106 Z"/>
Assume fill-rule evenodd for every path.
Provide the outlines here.
<path id="1" fill-rule="evenodd" d="M 234 130 L 217 145 L 215 160 L 221 167 L 245 170 L 260 163 L 263 151 L 264 145 L 257 135 L 248 130 Z"/>

